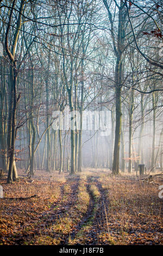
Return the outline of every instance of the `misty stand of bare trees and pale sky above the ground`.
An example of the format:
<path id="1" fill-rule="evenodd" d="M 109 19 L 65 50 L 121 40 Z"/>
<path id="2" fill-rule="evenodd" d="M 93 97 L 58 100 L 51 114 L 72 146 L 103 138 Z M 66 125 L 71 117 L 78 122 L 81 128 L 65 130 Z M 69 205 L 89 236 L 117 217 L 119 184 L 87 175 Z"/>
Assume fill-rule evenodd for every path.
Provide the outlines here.
<path id="1" fill-rule="evenodd" d="M 161 5 L 151 17 L 153 1 L 136 3 L 18 1 L 10 16 L 2 7 L 0 163 L 8 182 L 16 167 L 30 176 L 162 169 Z"/>

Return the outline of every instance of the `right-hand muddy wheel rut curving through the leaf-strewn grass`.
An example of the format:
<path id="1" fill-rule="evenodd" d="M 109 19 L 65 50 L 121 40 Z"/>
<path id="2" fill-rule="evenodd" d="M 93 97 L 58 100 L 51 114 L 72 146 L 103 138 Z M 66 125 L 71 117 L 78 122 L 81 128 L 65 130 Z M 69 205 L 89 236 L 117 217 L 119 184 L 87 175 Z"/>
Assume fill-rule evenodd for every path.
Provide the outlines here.
<path id="1" fill-rule="evenodd" d="M 95 186 L 99 191 L 96 199 L 91 191 L 91 186 Z M 87 177 L 87 193 L 89 193 L 90 203 L 87 212 L 78 223 L 75 230 L 70 234 L 73 245 L 97 245 L 99 244 L 99 234 L 104 230 L 106 223 L 106 195 L 102 189 L 98 178 Z M 105 206 L 104 206 L 105 205 Z M 68 242 L 66 241 L 66 244 Z"/>

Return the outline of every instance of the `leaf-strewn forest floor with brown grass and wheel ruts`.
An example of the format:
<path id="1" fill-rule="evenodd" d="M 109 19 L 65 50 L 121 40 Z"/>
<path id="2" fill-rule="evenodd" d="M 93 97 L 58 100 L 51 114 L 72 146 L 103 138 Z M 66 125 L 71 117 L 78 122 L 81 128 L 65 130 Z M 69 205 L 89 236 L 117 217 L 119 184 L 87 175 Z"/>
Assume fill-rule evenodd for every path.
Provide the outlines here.
<path id="1" fill-rule="evenodd" d="M 163 245 L 158 183 L 108 170 L 19 175 L 0 180 L 0 245 Z"/>

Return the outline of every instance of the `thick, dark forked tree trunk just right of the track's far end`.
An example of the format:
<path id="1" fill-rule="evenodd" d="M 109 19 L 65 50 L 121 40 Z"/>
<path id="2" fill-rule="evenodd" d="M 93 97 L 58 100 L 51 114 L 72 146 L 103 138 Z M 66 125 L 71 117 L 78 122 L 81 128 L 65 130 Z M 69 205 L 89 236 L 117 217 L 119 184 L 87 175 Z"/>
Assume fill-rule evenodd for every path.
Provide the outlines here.
<path id="1" fill-rule="evenodd" d="M 124 52 L 124 39 L 126 37 L 126 16 L 127 11 L 123 1 L 120 1 L 118 8 L 118 25 L 117 34 L 114 29 L 114 18 L 111 14 L 111 5 L 108 1 L 103 0 L 106 10 L 108 11 L 110 21 L 110 32 L 112 37 L 112 43 L 114 47 L 114 53 L 116 56 L 115 67 L 115 105 L 116 105 L 116 127 L 115 127 L 115 144 L 114 144 L 114 158 L 112 164 L 112 174 L 117 175 L 119 173 L 119 158 L 120 158 L 120 141 L 121 141 L 121 126 L 122 126 L 122 111 L 121 111 L 121 91 L 122 91 L 122 55 Z M 115 10 L 116 12 L 116 10 Z"/>

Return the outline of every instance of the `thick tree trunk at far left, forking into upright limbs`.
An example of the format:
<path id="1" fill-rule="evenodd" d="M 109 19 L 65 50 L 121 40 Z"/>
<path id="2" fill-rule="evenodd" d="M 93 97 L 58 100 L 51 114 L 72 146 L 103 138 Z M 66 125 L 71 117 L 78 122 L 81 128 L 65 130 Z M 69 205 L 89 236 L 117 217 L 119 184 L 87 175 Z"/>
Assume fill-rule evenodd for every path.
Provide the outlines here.
<path id="1" fill-rule="evenodd" d="M 12 2 L 11 6 L 11 11 L 9 15 L 9 21 L 7 25 L 7 30 L 5 33 L 5 51 L 7 52 L 7 55 L 10 60 L 11 68 L 10 68 L 10 110 L 11 112 L 9 113 L 9 123 L 8 123 L 8 147 L 9 147 L 9 172 L 8 172 L 8 179 L 7 182 L 10 183 L 13 180 L 17 179 L 17 171 L 16 171 L 16 164 L 14 163 L 14 153 L 15 153 L 15 140 L 16 140 L 16 109 L 17 109 L 17 103 L 18 100 L 20 100 L 20 96 L 17 98 L 17 61 L 15 59 L 15 49 L 17 45 L 17 40 L 18 40 L 18 35 L 20 33 L 20 28 L 21 28 L 21 19 L 22 19 L 22 10 L 24 7 L 24 0 L 21 0 L 21 5 L 18 13 L 18 20 L 17 20 L 17 25 L 16 25 L 16 30 L 14 33 L 14 39 L 12 42 L 11 46 L 11 51 L 9 50 L 9 45 L 8 45 L 8 37 L 9 37 L 9 31 L 10 31 L 10 26 L 11 26 L 11 19 L 12 19 L 12 14 L 14 11 L 14 7 L 16 4 L 16 0 Z M 13 176 L 14 173 L 14 176 Z M 14 178 L 13 178 L 14 177 Z"/>

